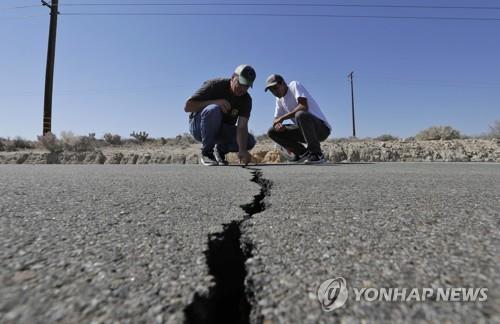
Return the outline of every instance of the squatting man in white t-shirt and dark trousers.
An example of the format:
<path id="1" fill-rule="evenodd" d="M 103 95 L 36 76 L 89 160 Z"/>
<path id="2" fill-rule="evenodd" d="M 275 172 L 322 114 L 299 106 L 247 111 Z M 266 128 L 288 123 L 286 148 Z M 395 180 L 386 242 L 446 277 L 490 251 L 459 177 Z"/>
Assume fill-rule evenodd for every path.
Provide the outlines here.
<path id="1" fill-rule="evenodd" d="M 297 81 L 286 84 L 278 74 L 267 78 L 267 90 L 276 97 L 269 137 L 294 154 L 293 162 L 324 163 L 320 142 L 328 138 L 331 126 L 311 94 Z M 293 124 L 283 124 L 288 119 Z"/>

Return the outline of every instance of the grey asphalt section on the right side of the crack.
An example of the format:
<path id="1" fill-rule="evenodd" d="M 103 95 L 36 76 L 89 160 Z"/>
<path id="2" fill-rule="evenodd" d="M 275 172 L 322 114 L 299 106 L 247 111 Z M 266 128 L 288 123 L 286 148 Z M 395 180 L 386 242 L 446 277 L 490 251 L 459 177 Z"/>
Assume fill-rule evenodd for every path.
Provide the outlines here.
<path id="1" fill-rule="evenodd" d="M 271 205 L 246 224 L 269 323 L 500 323 L 500 165 L 262 167 Z M 486 302 L 356 302 L 323 312 L 327 279 L 356 288 L 486 287 Z"/>

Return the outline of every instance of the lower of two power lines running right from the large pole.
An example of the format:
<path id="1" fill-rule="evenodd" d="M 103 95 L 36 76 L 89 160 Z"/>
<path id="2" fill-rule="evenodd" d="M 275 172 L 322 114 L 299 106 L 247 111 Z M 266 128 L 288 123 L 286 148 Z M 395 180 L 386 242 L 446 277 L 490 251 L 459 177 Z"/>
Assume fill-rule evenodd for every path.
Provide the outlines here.
<path id="1" fill-rule="evenodd" d="M 410 19 L 444 21 L 500 21 L 490 17 L 439 17 L 439 16 L 377 16 L 377 15 L 330 15 L 330 14 L 274 14 L 274 13 L 169 13 L 169 12 L 66 12 L 63 16 L 256 16 L 256 17 L 316 17 L 357 19 Z"/>

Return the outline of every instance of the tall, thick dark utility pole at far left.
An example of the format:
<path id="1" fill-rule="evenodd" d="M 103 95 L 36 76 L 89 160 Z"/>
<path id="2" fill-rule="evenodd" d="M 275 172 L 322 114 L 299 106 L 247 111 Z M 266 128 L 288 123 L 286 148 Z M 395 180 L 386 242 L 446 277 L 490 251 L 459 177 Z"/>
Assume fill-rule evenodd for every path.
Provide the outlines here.
<path id="1" fill-rule="evenodd" d="M 57 15 L 59 0 L 51 4 L 42 1 L 42 5 L 50 8 L 49 45 L 47 50 L 47 70 L 45 73 L 45 98 L 43 104 L 43 135 L 52 131 L 52 92 L 54 88 L 54 60 L 56 56 Z"/>

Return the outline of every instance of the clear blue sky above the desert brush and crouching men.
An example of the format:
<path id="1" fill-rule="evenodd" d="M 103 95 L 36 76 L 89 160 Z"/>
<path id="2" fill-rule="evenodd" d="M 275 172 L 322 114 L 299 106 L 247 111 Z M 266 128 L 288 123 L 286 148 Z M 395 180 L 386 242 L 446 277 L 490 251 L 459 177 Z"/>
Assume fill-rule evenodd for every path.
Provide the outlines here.
<path id="1" fill-rule="evenodd" d="M 270 1 L 223 0 L 269 4 Z M 89 3 L 207 3 L 164 0 L 60 0 L 65 13 L 265 13 L 500 18 L 500 10 L 293 7 L 361 4 L 500 7 L 498 0 L 275 0 L 266 6 L 65 6 Z M 46 7 L 0 0 L 0 136 L 42 132 Z M 41 16 L 38 16 L 41 15 Z M 20 18 L 25 16 L 35 16 Z M 271 73 L 300 81 L 348 137 L 354 71 L 358 137 L 412 136 L 433 125 L 478 135 L 500 119 L 500 21 L 276 16 L 60 15 L 53 132 L 188 131 L 184 102 L 203 81 L 229 77 L 242 63 L 257 72 L 250 129 L 264 133 L 274 98 Z"/>

